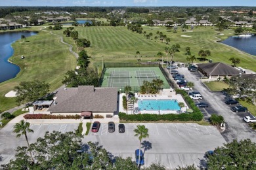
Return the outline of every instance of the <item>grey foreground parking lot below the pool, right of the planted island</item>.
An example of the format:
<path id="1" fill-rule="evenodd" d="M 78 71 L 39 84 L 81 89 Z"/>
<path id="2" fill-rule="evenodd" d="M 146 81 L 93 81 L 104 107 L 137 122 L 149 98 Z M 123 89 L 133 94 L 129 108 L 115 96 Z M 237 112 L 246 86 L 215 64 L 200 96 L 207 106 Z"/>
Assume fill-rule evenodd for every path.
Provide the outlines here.
<path id="1" fill-rule="evenodd" d="M 101 124 L 97 133 L 90 132 L 83 141 L 99 142 L 114 156 L 131 157 L 135 160 L 135 150 L 139 148 L 139 139 L 134 129 L 139 124 L 125 124 L 125 133 L 108 132 L 108 124 Z M 198 124 L 143 124 L 148 128 L 149 137 L 142 139 L 145 165 L 160 163 L 167 169 L 180 165 L 202 167 L 204 154 L 214 150 L 225 142 L 219 131 L 213 126 Z"/>

